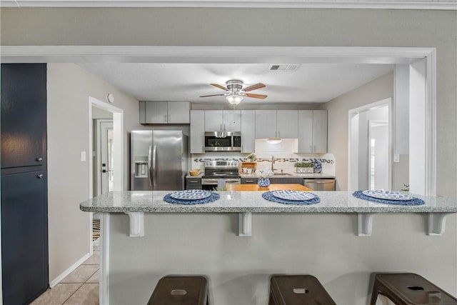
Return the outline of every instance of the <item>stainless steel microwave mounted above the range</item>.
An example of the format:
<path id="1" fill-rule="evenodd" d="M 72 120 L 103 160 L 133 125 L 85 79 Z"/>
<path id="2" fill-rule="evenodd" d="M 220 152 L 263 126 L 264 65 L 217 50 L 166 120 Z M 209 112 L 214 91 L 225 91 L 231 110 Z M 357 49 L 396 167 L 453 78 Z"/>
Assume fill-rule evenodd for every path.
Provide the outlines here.
<path id="1" fill-rule="evenodd" d="M 206 131 L 205 151 L 241 151 L 241 132 Z"/>

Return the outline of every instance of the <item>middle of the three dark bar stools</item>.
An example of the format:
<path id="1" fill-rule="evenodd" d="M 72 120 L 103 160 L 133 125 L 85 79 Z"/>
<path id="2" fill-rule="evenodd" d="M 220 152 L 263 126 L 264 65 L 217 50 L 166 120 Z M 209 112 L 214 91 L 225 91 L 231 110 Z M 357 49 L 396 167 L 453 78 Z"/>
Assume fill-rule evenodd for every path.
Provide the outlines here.
<path id="1" fill-rule="evenodd" d="M 336 305 L 316 277 L 271 276 L 268 305 Z"/>

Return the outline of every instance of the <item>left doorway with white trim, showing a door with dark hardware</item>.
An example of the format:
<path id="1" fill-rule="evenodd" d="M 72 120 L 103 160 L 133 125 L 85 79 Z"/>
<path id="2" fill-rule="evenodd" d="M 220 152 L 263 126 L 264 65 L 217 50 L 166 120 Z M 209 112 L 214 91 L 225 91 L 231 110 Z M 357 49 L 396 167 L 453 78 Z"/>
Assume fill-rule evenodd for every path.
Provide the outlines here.
<path id="1" fill-rule="evenodd" d="M 89 194 L 93 197 L 124 189 L 123 130 L 124 111 L 89 96 Z M 99 219 L 99 215 L 90 213 L 90 254 L 94 253 L 94 247 L 99 249 L 100 239 L 94 241 Z"/>

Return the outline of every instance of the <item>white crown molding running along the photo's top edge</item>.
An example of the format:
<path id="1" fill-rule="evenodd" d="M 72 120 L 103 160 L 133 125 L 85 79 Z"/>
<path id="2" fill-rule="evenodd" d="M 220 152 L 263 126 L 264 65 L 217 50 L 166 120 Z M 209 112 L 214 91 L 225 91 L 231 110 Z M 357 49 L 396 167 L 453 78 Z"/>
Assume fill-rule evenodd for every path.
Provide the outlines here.
<path id="1" fill-rule="evenodd" d="M 456 10 L 457 0 L 3 0 L 0 6 Z"/>

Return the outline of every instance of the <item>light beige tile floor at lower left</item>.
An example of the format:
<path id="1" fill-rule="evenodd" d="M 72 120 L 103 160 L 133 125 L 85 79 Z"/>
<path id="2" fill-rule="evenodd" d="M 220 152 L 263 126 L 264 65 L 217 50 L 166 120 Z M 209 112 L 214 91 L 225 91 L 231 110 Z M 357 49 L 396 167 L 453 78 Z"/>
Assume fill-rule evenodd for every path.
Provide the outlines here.
<path id="1" fill-rule="evenodd" d="M 31 304 L 99 305 L 100 251 L 96 241 L 94 241 L 94 254 L 89 259 Z"/>

